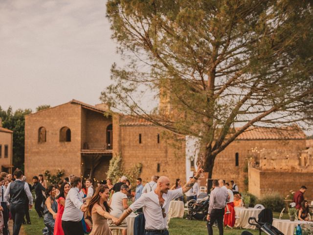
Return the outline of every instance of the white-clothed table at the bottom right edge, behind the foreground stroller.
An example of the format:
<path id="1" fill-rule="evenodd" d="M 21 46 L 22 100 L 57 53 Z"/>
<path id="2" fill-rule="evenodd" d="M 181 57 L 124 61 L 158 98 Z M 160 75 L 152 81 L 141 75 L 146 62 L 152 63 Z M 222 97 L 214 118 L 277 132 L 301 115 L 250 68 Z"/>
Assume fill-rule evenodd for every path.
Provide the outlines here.
<path id="1" fill-rule="evenodd" d="M 277 228 L 280 232 L 282 232 L 284 235 L 293 235 L 294 232 L 294 226 L 297 226 L 298 224 L 301 225 L 301 227 L 305 227 L 308 229 L 311 229 L 313 227 L 313 222 L 310 221 L 302 221 L 302 220 L 295 220 L 290 221 L 289 219 L 274 219 L 273 220 L 273 226 Z"/>

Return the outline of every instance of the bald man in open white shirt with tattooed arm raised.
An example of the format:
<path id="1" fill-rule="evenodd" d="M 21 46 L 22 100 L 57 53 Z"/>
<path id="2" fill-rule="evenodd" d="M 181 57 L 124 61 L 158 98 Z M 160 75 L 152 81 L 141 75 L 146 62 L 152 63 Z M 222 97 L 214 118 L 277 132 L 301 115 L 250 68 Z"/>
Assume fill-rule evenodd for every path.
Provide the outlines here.
<path id="1" fill-rule="evenodd" d="M 120 225 L 132 211 L 143 208 L 143 213 L 146 219 L 145 235 L 169 235 L 166 227 L 167 214 L 171 200 L 182 196 L 183 193 L 192 188 L 202 172 L 203 170 L 201 167 L 199 167 L 195 176 L 189 180 L 184 187 L 175 190 L 169 190 L 169 178 L 166 176 L 161 176 L 157 180 L 156 189 L 142 194 L 138 200 L 136 200 L 128 209 L 123 212 L 121 217 L 116 222 L 116 225 Z"/>

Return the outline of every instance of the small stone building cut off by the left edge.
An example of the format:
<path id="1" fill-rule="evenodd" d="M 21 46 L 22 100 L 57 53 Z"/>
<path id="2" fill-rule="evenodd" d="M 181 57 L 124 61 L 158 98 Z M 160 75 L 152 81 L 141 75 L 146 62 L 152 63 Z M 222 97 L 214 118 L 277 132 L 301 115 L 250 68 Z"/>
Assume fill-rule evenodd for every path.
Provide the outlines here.
<path id="1" fill-rule="evenodd" d="M 0 118 L 0 170 L 12 173 L 13 131 L 2 127 Z"/>

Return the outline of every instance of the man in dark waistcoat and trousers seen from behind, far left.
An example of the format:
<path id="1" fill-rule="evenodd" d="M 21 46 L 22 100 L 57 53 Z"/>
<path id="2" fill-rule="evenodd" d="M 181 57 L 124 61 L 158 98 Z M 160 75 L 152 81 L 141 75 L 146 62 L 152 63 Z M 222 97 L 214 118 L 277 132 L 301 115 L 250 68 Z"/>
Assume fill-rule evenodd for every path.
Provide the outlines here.
<path id="1" fill-rule="evenodd" d="M 26 198 L 29 200 L 28 208 L 31 209 L 33 196 L 31 195 L 28 184 L 22 182 L 22 170 L 16 169 L 13 175 L 16 180 L 8 185 L 4 197 L 10 202 L 10 211 L 13 219 L 13 235 L 19 235 L 25 214 Z"/>

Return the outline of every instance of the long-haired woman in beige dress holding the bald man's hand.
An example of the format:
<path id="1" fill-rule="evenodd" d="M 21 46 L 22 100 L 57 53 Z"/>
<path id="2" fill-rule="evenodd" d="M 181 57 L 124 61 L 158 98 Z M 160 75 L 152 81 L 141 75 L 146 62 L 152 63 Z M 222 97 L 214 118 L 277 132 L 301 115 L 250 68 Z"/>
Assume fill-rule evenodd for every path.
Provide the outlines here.
<path id="1" fill-rule="evenodd" d="M 112 235 L 107 219 L 115 223 L 117 218 L 110 214 L 112 209 L 107 202 L 109 196 L 109 187 L 100 185 L 90 199 L 88 213 L 92 218 L 92 230 L 89 235 Z"/>

